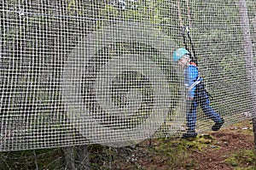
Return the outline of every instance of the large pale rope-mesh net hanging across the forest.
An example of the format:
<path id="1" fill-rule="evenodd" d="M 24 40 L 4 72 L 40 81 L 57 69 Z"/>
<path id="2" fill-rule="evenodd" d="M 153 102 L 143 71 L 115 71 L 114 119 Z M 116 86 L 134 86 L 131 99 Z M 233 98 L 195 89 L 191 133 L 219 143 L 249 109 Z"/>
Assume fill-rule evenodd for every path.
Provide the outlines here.
<path id="1" fill-rule="evenodd" d="M 185 27 L 224 126 L 253 118 L 255 6 L 253 0 L 3 0 L 0 151 L 181 136 L 187 93 L 172 53 L 185 45 L 192 51 Z M 197 110 L 196 131 L 210 130 L 214 122 Z"/>

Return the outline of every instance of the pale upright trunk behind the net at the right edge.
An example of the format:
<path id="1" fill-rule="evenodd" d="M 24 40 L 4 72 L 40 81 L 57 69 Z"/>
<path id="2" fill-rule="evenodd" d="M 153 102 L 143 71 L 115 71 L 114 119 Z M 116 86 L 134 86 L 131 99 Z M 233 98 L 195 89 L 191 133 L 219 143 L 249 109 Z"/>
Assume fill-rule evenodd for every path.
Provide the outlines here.
<path id="1" fill-rule="evenodd" d="M 240 0 L 239 11 L 241 18 L 241 29 L 243 32 L 243 48 L 244 48 L 244 59 L 246 61 L 247 78 L 249 80 L 250 94 L 252 95 L 253 105 L 253 133 L 254 133 L 254 146 L 256 149 L 256 83 L 255 83 L 255 68 L 253 59 L 253 42 L 250 33 L 250 23 L 247 14 L 247 3 L 246 0 Z"/>

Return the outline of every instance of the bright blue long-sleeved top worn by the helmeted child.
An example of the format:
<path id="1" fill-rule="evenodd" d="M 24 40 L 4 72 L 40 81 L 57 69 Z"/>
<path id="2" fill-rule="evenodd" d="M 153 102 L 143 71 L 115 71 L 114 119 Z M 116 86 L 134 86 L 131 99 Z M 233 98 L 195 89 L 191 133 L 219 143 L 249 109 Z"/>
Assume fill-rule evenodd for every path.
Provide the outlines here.
<path id="1" fill-rule="evenodd" d="M 189 88 L 194 82 L 197 81 L 199 77 L 199 71 L 195 65 L 188 65 L 184 68 L 184 76 L 185 76 L 185 79 L 184 79 L 185 88 Z M 196 86 L 191 90 L 189 90 L 188 92 L 189 98 L 195 97 L 195 88 Z"/>

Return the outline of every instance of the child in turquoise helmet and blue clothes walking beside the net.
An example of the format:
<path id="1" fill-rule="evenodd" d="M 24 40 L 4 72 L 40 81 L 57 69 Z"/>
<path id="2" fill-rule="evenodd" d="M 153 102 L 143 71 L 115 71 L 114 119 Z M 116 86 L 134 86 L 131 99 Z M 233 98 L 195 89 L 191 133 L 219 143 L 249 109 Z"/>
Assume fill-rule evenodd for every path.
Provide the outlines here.
<path id="1" fill-rule="evenodd" d="M 184 69 L 184 85 L 187 89 L 187 133 L 183 134 L 184 139 L 195 138 L 196 108 L 201 105 L 202 111 L 215 124 L 212 131 L 218 131 L 224 124 L 224 119 L 210 106 L 209 96 L 200 77 L 197 65 L 191 62 L 190 53 L 186 48 L 178 48 L 172 56 L 173 60 Z"/>

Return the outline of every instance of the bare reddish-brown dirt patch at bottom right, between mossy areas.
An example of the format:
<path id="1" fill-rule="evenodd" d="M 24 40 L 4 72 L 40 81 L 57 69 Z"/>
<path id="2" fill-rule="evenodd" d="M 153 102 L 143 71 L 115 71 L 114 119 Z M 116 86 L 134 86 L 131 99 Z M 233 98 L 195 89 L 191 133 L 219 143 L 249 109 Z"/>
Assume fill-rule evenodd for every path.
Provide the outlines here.
<path id="1" fill-rule="evenodd" d="M 227 127 L 219 132 L 210 133 L 216 139 L 215 147 L 218 149 L 211 145 L 209 148 L 195 151 L 189 158 L 201 162 L 196 169 L 234 169 L 236 165 L 232 165 L 232 162 L 227 163 L 225 160 L 241 150 L 253 150 L 253 135 L 247 132 L 247 129 L 251 128 L 241 124 L 239 127 Z M 253 163 L 256 162 L 244 161 L 241 162 L 240 167 L 250 166 L 256 169 Z"/>

